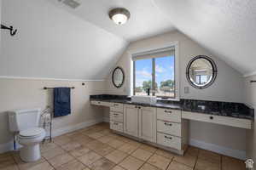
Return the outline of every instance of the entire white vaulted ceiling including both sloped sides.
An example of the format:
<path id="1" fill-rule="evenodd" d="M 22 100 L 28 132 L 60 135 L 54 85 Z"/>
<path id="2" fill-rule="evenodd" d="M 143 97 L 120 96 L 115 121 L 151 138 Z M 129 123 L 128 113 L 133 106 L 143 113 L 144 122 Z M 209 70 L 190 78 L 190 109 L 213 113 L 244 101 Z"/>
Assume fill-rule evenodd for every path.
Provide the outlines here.
<path id="1" fill-rule="evenodd" d="M 256 1 L 76 1 L 3 0 L 2 23 L 19 30 L 2 31 L 0 76 L 103 79 L 128 42 L 176 29 L 242 74 L 256 71 Z M 108 18 L 115 7 L 131 12 L 124 26 Z"/>

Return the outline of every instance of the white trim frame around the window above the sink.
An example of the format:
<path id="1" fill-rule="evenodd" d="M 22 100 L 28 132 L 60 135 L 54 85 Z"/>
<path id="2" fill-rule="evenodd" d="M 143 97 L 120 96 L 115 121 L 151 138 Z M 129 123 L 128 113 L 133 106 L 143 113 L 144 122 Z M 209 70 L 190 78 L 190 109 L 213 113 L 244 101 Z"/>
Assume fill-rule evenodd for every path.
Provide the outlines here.
<path id="1" fill-rule="evenodd" d="M 157 51 L 161 48 L 175 48 L 175 76 L 174 76 L 174 81 L 175 81 L 175 98 L 168 98 L 167 100 L 180 100 L 180 79 L 179 79 L 179 50 L 178 50 L 178 42 L 167 42 L 158 46 L 152 46 L 152 47 L 148 47 L 148 48 L 137 48 L 137 49 L 131 49 L 128 51 L 129 57 L 130 57 L 130 61 L 131 61 L 131 77 L 130 77 L 130 95 L 133 95 L 133 88 L 134 88 L 134 77 L 133 77 L 133 73 L 134 73 L 134 67 L 133 67 L 133 60 L 132 60 L 132 55 L 133 54 L 139 54 L 139 53 L 144 53 L 144 52 L 148 52 L 148 51 Z"/>

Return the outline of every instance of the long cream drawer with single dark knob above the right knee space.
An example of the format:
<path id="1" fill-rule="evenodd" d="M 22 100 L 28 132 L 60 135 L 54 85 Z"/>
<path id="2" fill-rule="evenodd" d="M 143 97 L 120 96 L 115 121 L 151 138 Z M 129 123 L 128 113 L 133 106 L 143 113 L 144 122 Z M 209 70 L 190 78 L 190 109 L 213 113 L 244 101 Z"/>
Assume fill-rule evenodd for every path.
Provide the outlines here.
<path id="1" fill-rule="evenodd" d="M 226 125 L 230 127 L 241 127 L 241 128 L 252 128 L 252 121 L 248 119 L 241 119 L 228 116 L 216 116 L 216 115 L 207 115 L 202 113 L 183 111 L 183 119 L 189 119 L 194 121 L 201 122 L 212 122 L 221 125 Z"/>

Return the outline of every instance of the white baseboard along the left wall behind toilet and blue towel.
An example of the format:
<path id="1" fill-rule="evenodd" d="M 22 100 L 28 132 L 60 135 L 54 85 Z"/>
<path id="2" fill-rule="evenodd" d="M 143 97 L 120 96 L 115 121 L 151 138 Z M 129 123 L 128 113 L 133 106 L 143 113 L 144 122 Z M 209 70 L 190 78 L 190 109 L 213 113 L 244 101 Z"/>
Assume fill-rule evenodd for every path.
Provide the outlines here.
<path id="1" fill-rule="evenodd" d="M 90 127 L 91 125 L 95 125 L 96 123 L 99 123 L 99 122 L 103 122 L 102 118 L 96 119 L 96 120 L 90 120 L 87 122 L 81 122 L 81 123 L 73 125 L 73 126 L 62 127 L 59 129 L 53 129 L 52 137 L 60 136 L 61 134 L 64 134 L 64 133 L 70 133 L 75 130 L 79 130 L 80 128 Z M 16 143 L 16 148 L 19 149 L 20 144 Z M 0 144 L 0 153 L 4 153 L 4 152 L 14 150 L 14 149 L 15 149 L 14 141 L 10 141 L 5 144 Z"/>

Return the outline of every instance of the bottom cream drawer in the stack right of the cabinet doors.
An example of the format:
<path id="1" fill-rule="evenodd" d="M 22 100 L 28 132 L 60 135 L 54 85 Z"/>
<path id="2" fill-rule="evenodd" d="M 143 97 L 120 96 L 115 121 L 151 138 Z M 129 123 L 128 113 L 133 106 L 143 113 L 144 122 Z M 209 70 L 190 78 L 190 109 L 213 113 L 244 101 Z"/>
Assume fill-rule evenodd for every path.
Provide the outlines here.
<path id="1" fill-rule="evenodd" d="M 176 150 L 182 149 L 181 138 L 164 133 L 157 133 L 157 144 L 174 148 Z"/>

